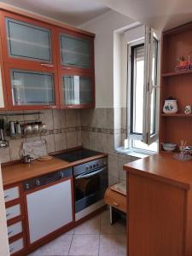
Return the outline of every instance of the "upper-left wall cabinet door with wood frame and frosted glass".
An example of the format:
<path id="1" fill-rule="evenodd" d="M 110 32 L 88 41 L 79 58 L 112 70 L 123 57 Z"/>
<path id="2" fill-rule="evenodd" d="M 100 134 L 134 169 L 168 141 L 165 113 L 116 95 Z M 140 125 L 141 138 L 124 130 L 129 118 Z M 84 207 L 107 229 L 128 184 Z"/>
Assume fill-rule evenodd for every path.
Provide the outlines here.
<path id="1" fill-rule="evenodd" d="M 55 62 L 52 26 L 37 20 L 3 12 L 5 61 L 36 61 L 38 65 Z"/>

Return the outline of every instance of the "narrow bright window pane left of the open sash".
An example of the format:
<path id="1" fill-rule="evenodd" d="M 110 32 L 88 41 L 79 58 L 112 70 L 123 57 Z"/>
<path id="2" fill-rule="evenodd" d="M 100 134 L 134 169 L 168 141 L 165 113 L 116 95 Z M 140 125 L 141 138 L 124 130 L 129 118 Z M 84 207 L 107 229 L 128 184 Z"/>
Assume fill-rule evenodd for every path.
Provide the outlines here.
<path id="1" fill-rule="evenodd" d="M 131 133 L 143 132 L 144 46 L 131 49 Z"/>

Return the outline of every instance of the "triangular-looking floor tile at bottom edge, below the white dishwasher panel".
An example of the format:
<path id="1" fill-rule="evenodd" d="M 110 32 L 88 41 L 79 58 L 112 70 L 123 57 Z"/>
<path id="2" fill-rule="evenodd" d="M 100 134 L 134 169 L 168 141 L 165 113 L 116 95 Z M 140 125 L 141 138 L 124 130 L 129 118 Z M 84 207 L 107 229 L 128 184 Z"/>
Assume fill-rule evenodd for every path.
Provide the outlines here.
<path id="1" fill-rule="evenodd" d="M 62 235 L 54 241 L 50 241 L 44 247 L 40 247 L 28 256 L 60 256 L 68 255 L 73 235 Z"/>

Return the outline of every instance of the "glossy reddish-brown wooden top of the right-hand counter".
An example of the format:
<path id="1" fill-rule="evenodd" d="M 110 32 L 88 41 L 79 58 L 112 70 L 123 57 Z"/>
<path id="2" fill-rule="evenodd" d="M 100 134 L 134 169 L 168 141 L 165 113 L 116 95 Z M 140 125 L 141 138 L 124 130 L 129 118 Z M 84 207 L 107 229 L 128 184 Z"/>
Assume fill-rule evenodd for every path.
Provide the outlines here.
<path id="1" fill-rule="evenodd" d="M 154 154 L 124 165 L 124 170 L 183 189 L 192 189 L 192 160 L 175 160 L 172 154 Z"/>

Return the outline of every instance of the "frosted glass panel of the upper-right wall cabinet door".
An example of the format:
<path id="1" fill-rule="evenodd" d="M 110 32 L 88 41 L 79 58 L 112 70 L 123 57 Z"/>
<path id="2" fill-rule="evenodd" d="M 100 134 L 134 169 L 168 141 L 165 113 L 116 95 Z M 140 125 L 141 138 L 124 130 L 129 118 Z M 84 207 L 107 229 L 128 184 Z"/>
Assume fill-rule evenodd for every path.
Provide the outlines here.
<path id="1" fill-rule="evenodd" d="M 61 65 L 90 67 L 90 42 L 61 34 Z"/>

